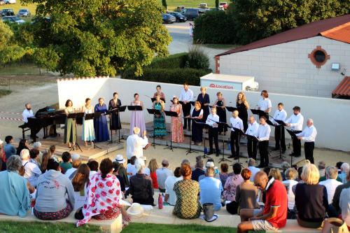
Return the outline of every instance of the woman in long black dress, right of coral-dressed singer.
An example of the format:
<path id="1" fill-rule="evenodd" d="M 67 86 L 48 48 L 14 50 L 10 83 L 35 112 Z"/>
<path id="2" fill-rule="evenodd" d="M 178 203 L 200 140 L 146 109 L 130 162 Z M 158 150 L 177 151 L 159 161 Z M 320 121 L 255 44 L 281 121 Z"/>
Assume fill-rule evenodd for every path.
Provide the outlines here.
<path id="1" fill-rule="evenodd" d="M 200 101 L 195 101 L 195 108 L 193 108 L 191 118 L 193 119 L 191 144 L 197 143 L 198 146 L 201 146 L 203 141 L 203 127 L 197 123 L 203 120 L 203 109 L 201 109 Z"/>

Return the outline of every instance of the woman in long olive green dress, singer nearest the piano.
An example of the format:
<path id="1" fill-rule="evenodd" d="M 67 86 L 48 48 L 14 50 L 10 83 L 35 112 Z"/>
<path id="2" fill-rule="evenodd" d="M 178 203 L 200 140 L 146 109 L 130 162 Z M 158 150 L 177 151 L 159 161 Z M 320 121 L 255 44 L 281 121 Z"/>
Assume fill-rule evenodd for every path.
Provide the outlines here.
<path id="1" fill-rule="evenodd" d="M 64 124 L 64 143 L 71 148 L 71 143 L 73 146 L 76 145 L 76 119 L 68 118 L 68 115 L 74 113 L 73 102 L 70 99 L 66 101 L 66 108 L 64 108 L 64 113 L 66 113 L 66 122 Z"/>

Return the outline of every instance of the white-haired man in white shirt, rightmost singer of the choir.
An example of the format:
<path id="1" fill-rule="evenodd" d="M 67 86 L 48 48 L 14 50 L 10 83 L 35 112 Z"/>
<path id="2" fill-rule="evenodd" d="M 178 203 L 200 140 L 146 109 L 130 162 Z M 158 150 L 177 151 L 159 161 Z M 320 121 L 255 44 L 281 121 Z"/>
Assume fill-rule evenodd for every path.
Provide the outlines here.
<path id="1" fill-rule="evenodd" d="M 314 127 L 314 120 L 309 118 L 307 120 L 307 127 L 304 130 L 296 134 L 297 139 L 304 141 L 304 153 L 305 159 L 310 160 L 311 164 L 314 164 L 314 148 L 315 139 L 317 135 L 316 127 Z"/>

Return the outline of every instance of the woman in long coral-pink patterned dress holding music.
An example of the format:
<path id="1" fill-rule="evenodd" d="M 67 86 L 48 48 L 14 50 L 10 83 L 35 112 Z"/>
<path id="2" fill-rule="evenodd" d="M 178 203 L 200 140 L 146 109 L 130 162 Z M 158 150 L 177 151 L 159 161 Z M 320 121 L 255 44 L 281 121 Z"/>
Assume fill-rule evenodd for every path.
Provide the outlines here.
<path id="1" fill-rule="evenodd" d="M 173 98 L 173 104 L 170 106 L 170 111 L 176 112 L 177 117 L 172 117 L 172 141 L 176 143 L 183 142 L 183 127 L 182 127 L 182 105 L 179 104 L 177 97 Z"/>

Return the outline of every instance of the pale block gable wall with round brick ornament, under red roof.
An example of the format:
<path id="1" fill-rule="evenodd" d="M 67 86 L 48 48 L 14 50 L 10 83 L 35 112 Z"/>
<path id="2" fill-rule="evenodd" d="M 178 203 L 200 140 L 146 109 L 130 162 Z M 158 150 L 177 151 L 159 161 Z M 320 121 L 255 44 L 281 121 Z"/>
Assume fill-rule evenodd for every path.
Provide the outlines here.
<path id="1" fill-rule="evenodd" d="M 330 55 L 319 69 L 308 58 L 318 45 Z M 338 72 L 331 70 L 332 62 L 339 62 Z M 350 44 L 323 36 L 220 57 L 220 73 L 254 76 L 260 90 L 315 97 L 332 97 L 332 90 L 343 78 L 343 69 L 349 76 Z"/>

